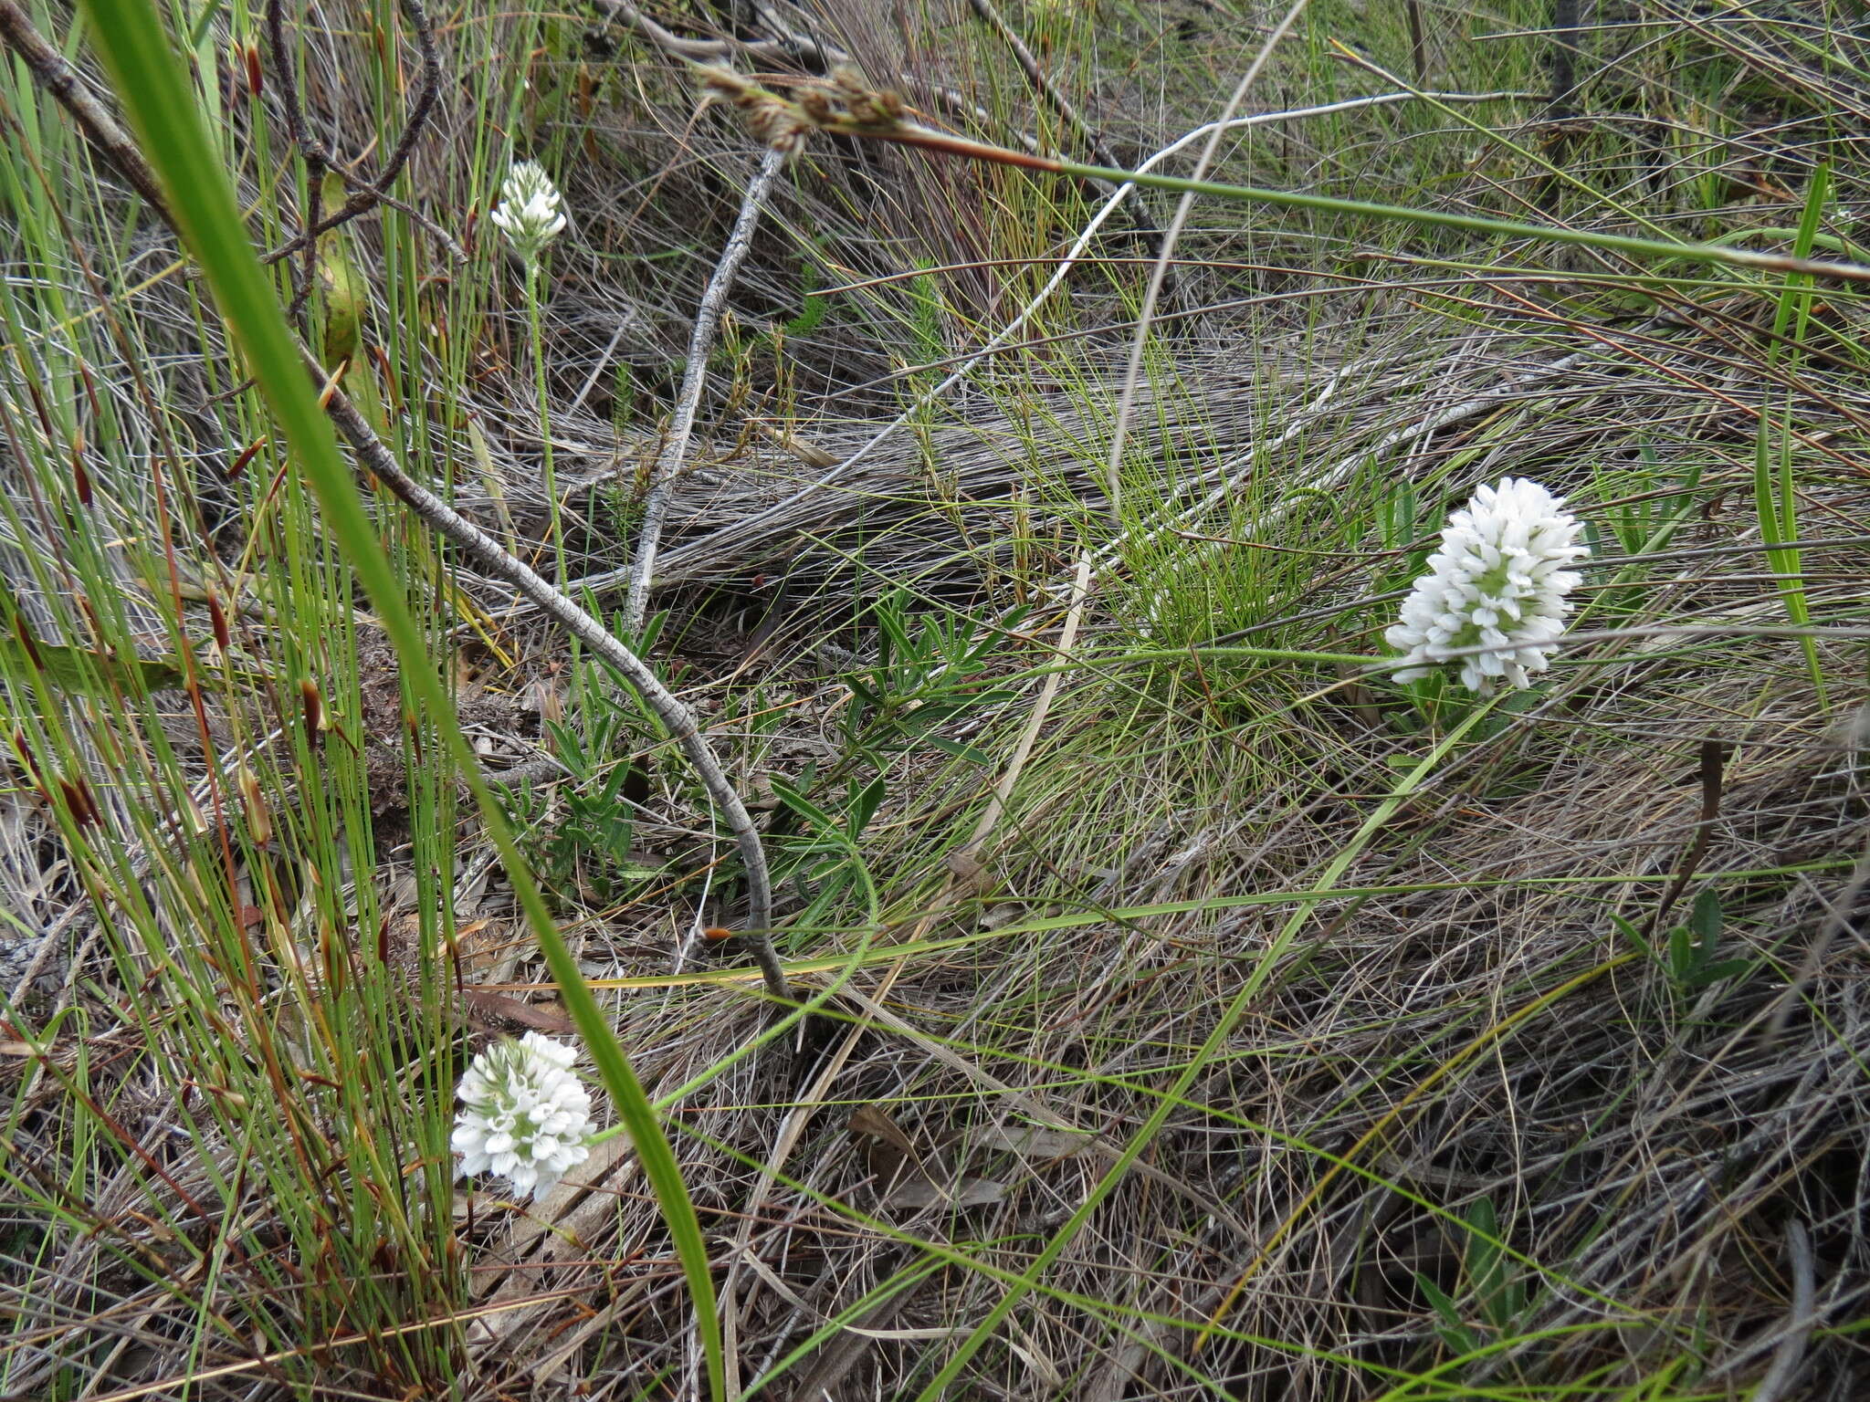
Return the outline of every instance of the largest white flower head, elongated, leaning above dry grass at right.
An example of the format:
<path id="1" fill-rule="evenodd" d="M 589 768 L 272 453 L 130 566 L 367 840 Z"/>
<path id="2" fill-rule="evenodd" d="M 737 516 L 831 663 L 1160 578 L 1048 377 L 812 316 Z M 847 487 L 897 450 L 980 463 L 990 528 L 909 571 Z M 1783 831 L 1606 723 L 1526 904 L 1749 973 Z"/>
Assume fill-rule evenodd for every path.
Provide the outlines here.
<path id="1" fill-rule="evenodd" d="M 1397 680 L 1459 662 L 1462 686 L 1487 695 L 1498 679 L 1524 688 L 1532 684 L 1526 673 L 1550 665 L 1571 613 L 1565 594 L 1578 585 L 1565 566 L 1588 553 L 1563 505 L 1533 480 L 1505 477 L 1447 518 L 1431 572 L 1402 602 L 1402 621 L 1384 634 L 1406 652 Z M 1466 647 L 1485 651 L 1453 656 Z"/>

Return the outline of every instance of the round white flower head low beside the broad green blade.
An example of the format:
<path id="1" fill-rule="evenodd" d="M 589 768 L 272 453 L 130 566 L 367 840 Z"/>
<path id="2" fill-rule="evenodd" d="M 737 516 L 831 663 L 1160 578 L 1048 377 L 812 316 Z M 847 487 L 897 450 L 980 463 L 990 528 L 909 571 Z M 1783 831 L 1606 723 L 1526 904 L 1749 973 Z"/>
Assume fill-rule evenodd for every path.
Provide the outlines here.
<path id="1" fill-rule="evenodd" d="M 514 1196 L 544 1196 L 591 1155 L 591 1094 L 570 1069 L 576 1047 L 539 1032 L 488 1047 L 462 1077 L 456 1178 L 496 1172 Z"/>

